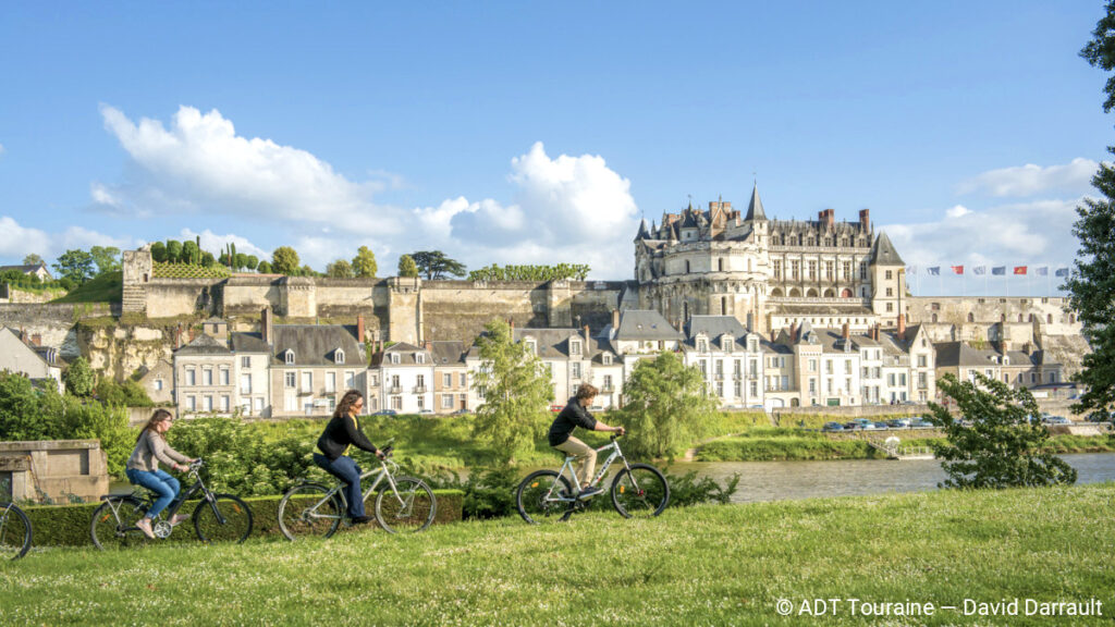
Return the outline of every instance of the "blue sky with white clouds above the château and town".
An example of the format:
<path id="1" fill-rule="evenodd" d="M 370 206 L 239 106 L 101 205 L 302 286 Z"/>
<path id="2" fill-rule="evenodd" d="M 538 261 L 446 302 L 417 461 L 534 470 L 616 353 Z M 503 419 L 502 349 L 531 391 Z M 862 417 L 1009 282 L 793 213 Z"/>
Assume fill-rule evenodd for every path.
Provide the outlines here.
<path id="1" fill-rule="evenodd" d="M 369 245 L 380 274 L 439 249 L 626 279 L 640 218 L 744 206 L 757 180 L 773 218 L 870 208 L 919 268 L 1067 266 L 1115 143 L 1105 76 L 1077 55 L 1102 12 L 12 2 L 0 263 L 201 234 L 319 270 Z M 966 280 L 911 283 L 985 291 Z"/>

